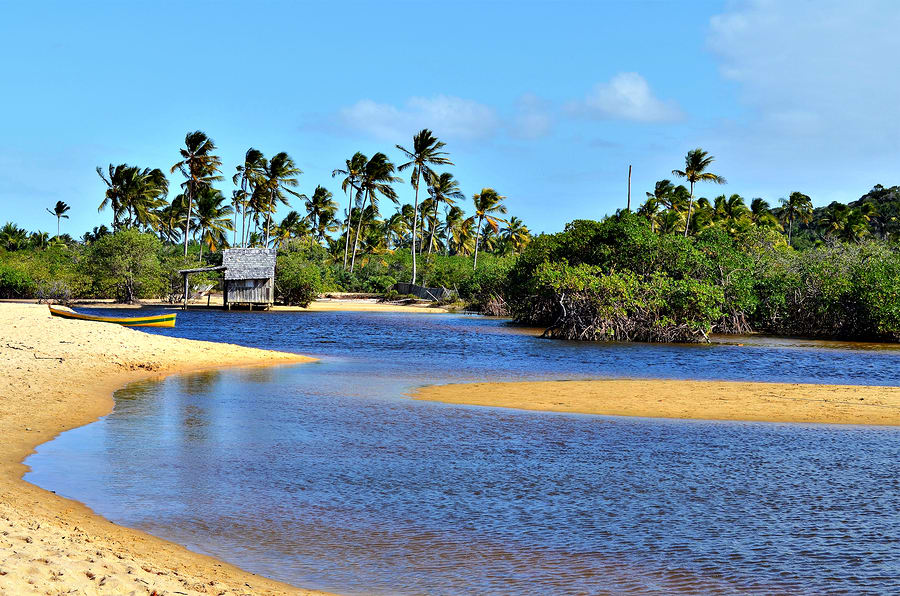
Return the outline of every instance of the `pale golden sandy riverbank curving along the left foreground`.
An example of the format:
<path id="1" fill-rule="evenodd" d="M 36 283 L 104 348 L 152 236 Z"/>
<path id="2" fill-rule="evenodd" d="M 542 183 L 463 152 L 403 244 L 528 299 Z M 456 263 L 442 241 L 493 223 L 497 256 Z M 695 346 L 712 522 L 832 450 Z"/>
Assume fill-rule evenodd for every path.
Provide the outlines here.
<path id="1" fill-rule="evenodd" d="M 29 304 L 0 304 L 0 330 L 0 593 L 314 593 L 117 526 L 22 480 L 37 445 L 108 414 L 127 383 L 312 358 L 70 321 Z"/>

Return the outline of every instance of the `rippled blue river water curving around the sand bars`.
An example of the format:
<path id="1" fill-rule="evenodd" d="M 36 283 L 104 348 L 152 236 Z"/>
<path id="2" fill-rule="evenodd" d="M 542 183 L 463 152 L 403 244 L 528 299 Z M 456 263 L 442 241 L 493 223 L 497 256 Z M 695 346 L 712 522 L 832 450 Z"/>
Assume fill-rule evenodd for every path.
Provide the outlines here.
<path id="1" fill-rule="evenodd" d="M 898 430 L 403 397 L 486 378 L 898 385 L 900 351 L 582 344 L 383 313 L 189 311 L 154 332 L 322 361 L 132 385 L 26 478 L 250 571 L 345 594 L 900 589 Z"/>

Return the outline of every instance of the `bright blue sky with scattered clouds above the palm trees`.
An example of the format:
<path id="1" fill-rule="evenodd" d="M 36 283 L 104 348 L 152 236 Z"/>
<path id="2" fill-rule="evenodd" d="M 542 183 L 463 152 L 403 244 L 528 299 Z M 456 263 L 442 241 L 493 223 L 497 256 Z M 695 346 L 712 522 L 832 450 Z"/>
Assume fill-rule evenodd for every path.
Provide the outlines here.
<path id="1" fill-rule="evenodd" d="M 775 204 L 801 190 L 823 205 L 900 183 L 893 1 L 0 0 L 0 12 L 0 223 L 32 230 L 52 231 L 57 200 L 74 236 L 108 224 L 95 167 L 168 171 L 197 129 L 227 179 L 250 146 L 287 151 L 301 191 L 322 184 L 343 207 L 332 169 L 357 150 L 398 161 L 394 145 L 428 127 L 468 196 L 496 188 L 534 231 L 624 206 L 628 164 L 640 201 L 697 146 L 729 182 L 700 195 Z"/>

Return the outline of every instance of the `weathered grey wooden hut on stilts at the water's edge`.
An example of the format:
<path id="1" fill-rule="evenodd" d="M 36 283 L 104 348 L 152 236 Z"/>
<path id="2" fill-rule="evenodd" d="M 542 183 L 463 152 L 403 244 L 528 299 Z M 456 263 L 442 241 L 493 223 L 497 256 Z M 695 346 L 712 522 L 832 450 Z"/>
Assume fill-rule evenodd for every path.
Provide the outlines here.
<path id="1" fill-rule="evenodd" d="M 228 248 L 222 255 L 225 268 L 225 308 L 246 304 L 266 308 L 275 302 L 275 249 Z"/>

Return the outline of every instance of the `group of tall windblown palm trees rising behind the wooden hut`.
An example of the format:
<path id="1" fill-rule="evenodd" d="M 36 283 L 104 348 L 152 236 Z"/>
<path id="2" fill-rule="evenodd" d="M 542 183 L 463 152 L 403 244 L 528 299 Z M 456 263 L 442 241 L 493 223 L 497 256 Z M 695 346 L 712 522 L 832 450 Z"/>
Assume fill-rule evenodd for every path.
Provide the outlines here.
<path id="1" fill-rule="evenodd" d="M 396 146 L 403 158 L 399 165 L 382 152 L 371 157 L 355 153 L 332 173 L 347 198 L 339 214 L 338 203 L 324 186 L 316 186 L 310 196 L 297 190 L 303 172 L 285 152 L 267 158 L 258 149 L 248 149 L 235 167 L 231 179 L 235 189 L 227 199 L 217 188 L 224 179 L 217 147 L 205 133 L 194 131 L 186 135 L 180 159 L 169 171 L 183 178 L 171 202 L 169 180 L 160 169 L 110 164 L 97 168 L 107 187 L 99 210 L 111 209 L 111 231 L 152 232 L 163 242 L 182 243 L 185 256 L 191 240 L 215 252 L 228 246 L 278 248 L 291 239 L 309 237 L 333 257 L 340 255 L 343 267 L 352 272 L 361 252 L 407 249 L 413 258 L 413 283 L 422 254 L 471 255 L 476 268 L 479 251 L 521 251 L 531 234 L 521 219 L 503 217 L 505 196 L 484 188 L 471 199 L 474 213 L 465 213 L 466 197 L 458 181 L 451 172 L 438 171 L 453 165 L 444 147 L 423 129 L 409 148 Z M 396 188 L 402 182 L 396 174 L 407 171 L 414 196 L 411 205 L 400 203 Z M 382 215 L 381 199 L 395 205 L 394 213 Z M 292 209 L 276 222 L 277 208 L 293 202 L 301 203 L 302 211 Z M 106 231 L 95 229 L 84 240 Z"/>

